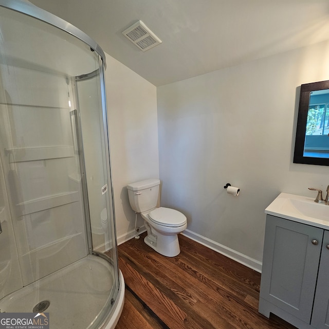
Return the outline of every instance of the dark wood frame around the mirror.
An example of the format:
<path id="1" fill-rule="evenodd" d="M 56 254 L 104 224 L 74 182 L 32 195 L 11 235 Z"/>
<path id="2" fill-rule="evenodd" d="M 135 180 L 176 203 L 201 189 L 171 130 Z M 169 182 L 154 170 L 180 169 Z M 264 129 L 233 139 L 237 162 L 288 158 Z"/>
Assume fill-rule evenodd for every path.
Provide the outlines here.
<path id="1" fill-rule="evenodd" d="M 304 156 L 306 122 L 309 108 L 310 92 L 329 89 L 329 80 L 302 84 L 300 88 L 298 120 L 295 141 L 294 163 L 329 166 L 329 158 Z M 329 156 L 329 155 L 328 155 Z"/>

